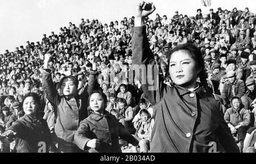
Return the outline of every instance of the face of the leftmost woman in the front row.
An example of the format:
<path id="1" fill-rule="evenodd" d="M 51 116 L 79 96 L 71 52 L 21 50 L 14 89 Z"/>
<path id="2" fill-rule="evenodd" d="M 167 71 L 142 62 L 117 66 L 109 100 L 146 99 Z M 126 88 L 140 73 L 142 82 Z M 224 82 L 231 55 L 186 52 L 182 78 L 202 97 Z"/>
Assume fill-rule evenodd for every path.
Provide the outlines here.
<path id="1" fill-rule="evenodd" d="M 24 113 L 26 113 L 27 115 L 33 115 L 33 114 L 36 114 L 36 111 L 38 111 L 38 109 L 39 109 L 39 105 L 34 100 L 34 97 L 30 96 L 25 98 L 23 102 Z"/>

